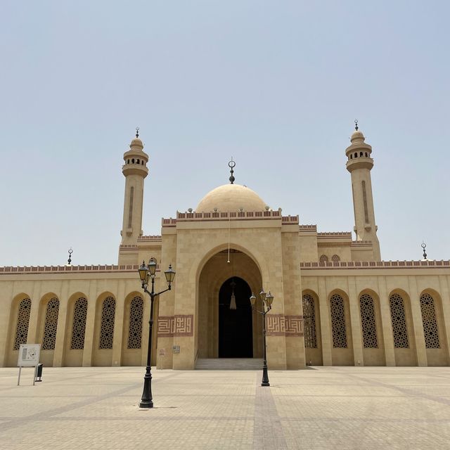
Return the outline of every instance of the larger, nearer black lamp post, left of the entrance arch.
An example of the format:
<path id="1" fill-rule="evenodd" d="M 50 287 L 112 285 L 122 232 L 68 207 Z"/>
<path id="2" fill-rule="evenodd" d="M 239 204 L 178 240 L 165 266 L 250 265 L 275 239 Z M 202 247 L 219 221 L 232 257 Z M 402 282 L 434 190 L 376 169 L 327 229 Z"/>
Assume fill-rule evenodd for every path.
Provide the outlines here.
<path id="1" fill-rule="evenodd" d="M 155 274 L 156 274 L 156 259 L 151 258 L 148 262 L 148 266 L 143 261 L 141 267 L 138 269 L 139 278 L 141 278 L 142 288 L 145 293 L 150 295 L 150 321 L 149 325 L 149 333 L 148 333 L 148 352 L 147 352 L 147 367 L 146 367 L 146 375 L 143 376 L 143 392 L 141 403 L 139 404 L 139 408 L 153 408 L 153 397 L 152 397 L 152 330 L 153 330 L 153 300 L 157 295 L 165 293 L 167 290 L 172 289 L 172 281 L 175 278 L 175 272 L 172 270 L 172 264 L 169 264 L 169 270 L 165 271 L 164 274 L 166 276 L 166 281 L 169 287 L 165 290 L 162 290 L 159 293 L 155 293 Z M 151 279 L 152 281 L 152 290 L 148 291 L 148 281 Z"/>

